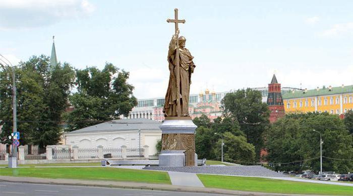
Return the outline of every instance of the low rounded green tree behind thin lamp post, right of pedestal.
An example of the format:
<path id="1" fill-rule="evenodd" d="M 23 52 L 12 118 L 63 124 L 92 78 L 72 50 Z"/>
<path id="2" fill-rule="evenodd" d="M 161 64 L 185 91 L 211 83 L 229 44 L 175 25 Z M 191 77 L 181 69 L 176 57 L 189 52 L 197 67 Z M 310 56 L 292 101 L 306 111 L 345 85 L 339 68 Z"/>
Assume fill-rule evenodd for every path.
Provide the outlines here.
<path id="1" fill-rule="evenodd" d="M 230 132 L 225 132 L 223 135 L 223 154 L 224 160 L 229 162 L 238 162 L 240 164 L 251 164 L 255 159 L 255 146 L 247 142 L 244 136 L 234 136 Z M 215 153 L 220 155 L 221 142 L 219 139 L 214 148 Z M 248 163 L 247 163 L 248 162 Z"/>

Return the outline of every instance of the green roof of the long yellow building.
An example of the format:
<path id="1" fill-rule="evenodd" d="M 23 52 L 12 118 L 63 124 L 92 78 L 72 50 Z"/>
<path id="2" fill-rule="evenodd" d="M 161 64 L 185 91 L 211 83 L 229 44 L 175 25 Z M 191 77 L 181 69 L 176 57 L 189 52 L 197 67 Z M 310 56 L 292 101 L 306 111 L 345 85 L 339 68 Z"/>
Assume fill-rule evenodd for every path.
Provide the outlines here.
<path id="1" fill-rule="evenodd" d="M 317 89 L 311 89 L 307 90 L 297 90 L 292 92 L 288 92 L 282 95 L 283 100 L 288 100 L 288 99 L 295 99 L 295 98 L 301 98 L 301 97 L 311 97 L 311 96 L 324 96 L 324 95 L 331 95 L 331 94 L 341 94 L 341 93 L 350 93 L 353 92 L 353 85 L 349 86 L 337 86 L 337 87 L 332 87 L 329 89 L 328 87 L 325 88 L 319 88 Z"/>

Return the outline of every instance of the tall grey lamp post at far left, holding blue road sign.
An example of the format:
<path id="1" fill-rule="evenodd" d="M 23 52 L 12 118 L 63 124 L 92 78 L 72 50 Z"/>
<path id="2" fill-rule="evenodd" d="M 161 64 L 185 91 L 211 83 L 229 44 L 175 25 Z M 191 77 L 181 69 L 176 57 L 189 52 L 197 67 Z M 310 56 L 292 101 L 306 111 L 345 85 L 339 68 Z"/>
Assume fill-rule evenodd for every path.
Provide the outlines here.
<path id="1" fill-rule="evenodd" d="M 5 59 L 5 60 L 3 60 Z M 4 65 L 5 64 L 5 65 Z M 0 65 L 6 69 L 8 67 L 12 72 L 12 105 L 13 105 L 13 133 L 17 132 L 17 104 L 16 104 L 16 77 L 15 77 L 15 69 L 11 62 L 0 54 Z M 11 66 L 10 66 L 11 65 Z M 17 147 L 14 148 L 12 145 L 12 157 L 15 158 L 16 166 L 17 166 Z M 10 161 L 9 161 L 10 164 Z M 10 167 L 10 166 L 9 166 Z M 12 167 L 12 166 L 11 166 Z"/>

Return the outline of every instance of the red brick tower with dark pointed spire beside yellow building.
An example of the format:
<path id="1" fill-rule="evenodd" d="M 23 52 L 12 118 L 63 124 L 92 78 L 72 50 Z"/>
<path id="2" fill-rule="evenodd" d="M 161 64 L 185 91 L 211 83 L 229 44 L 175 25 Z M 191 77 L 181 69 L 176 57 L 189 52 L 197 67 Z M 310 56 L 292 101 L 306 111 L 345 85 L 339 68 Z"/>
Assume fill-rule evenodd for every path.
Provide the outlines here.
<path id="1" fill-rule="evenodd" d="M 271 83 L 268 84 L 267 105 L 270 110 L 270 123 L 284 116 L 281 84 L 278 83 L 275 74 L 272 76 Z"/>

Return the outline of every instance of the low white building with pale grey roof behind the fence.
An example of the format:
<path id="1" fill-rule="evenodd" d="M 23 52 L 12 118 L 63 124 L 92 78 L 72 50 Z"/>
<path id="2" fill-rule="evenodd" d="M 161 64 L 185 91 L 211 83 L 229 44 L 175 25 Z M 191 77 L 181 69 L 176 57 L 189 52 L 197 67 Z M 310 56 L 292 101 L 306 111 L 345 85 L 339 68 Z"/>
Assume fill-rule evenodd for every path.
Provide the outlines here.
<path id="1" fill-rule="evenodd" d="M 149 146 L 148 155 L 157 152 L 157 141 L 162 137 L 160 122 L 149 119 L 113 120 L 64 134 L 66 145 L 79 148 L 142 148 Z"/>

